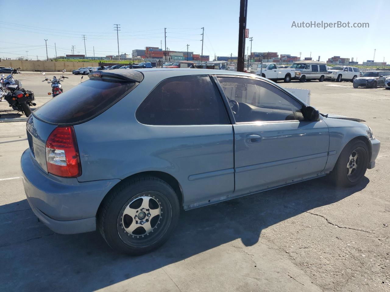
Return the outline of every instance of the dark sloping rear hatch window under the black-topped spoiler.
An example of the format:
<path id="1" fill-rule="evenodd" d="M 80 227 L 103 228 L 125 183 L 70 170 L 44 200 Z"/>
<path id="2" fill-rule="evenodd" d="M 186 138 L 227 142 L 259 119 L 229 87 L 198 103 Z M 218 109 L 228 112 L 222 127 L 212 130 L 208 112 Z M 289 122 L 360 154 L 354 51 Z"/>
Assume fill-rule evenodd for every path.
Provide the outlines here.
<path id="1" fill-rule="evenodd" d="M 41 121 L 74 125 L 90 120 L 127 95 L 138 82 L 94 78 L 66 90 L 34 111 Z"/>

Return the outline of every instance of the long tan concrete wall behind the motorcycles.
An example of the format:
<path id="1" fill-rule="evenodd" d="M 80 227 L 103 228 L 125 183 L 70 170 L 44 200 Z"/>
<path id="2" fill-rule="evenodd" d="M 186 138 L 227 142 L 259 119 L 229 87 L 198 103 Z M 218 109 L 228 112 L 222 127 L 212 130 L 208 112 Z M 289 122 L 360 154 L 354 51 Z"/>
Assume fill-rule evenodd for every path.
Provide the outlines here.
<path id="1" fill-rule="evenodd" d="M 67 72 L 80 67 L 97 67 L 97 62 L 56 62 L 56 61 L 21 61 L 21 60 L 2 60 L 0 66 L 21 68 L 21 71 L 44 71 L 59 72 L 66 69 Z"/>

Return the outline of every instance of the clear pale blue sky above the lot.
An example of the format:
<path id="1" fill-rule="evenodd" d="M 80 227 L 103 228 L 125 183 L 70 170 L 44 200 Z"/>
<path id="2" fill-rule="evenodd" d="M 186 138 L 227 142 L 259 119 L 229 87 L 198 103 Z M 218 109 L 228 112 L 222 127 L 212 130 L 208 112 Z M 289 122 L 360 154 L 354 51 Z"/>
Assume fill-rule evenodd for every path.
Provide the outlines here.
<path id="1" fill-rule="evenodd" d="M 5 1 L 5 0 L 3 0 Z M 3 2 L 2 1 L 2 2 Z M 113 24 L 120 24 L 119 53 L 131 54 L 146 46 L 164 48 L 164 27 L 167 47 L 200 53 L 204 27 L 204 55 L 228 56 L 238 53 L 239 0 L 131 0 L 95 1 L 27 1 L 13 0 L 12 15 L 0 20 L 0 57 L 26 56 L 36 60 L 48 55 L 84 54 L 82 34 L 86 35 L 87 55 L 118 53 Z M 3 7 L 4 8 L 4 7 Z M 247 28 L 253 37 L 252 51 L 273 51 L 278 54 L 311 55 L 327 60 L 332 56 L 390 63 L 388 25 L 389 1 L 269 1 L 248 0 Z M 18 13 L 16 13 L 18 12 Z M 16 14 L 15 14 L 16 13 Z M 7 20 L 7 22 L 4 22 Z M 369 23 L 369 28 L 292 28 L 293 21 Z M 250 42 L 246 41 L 250 47 Z"/>

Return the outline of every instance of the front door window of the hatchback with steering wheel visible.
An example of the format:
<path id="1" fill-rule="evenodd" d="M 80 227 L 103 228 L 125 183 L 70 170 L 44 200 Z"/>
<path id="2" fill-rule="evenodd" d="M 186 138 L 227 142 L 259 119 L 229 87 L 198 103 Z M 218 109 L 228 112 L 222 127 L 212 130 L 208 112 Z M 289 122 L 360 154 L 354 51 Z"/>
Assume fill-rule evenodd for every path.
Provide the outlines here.
<path id="1" fill-rule="evenodd" d="M 303 120 L 301 104 L 269 83 L 239 77 L 218 80 L 236 122 Z"/>

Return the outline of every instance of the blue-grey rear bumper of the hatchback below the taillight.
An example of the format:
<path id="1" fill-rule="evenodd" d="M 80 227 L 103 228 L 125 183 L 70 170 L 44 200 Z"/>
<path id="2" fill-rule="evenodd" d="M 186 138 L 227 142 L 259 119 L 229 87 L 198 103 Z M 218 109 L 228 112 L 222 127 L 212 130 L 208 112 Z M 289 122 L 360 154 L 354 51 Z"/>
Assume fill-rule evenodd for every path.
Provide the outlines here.
<path id="1" fill-rule="evenodd" d="M 96 230 L 96 212 L 108 191 L 120 179 L 80 183 L 44 173 L 30 149 L 21 157 L 23 186 L 35 215 L 51 230 L 75 234 Z"/>

